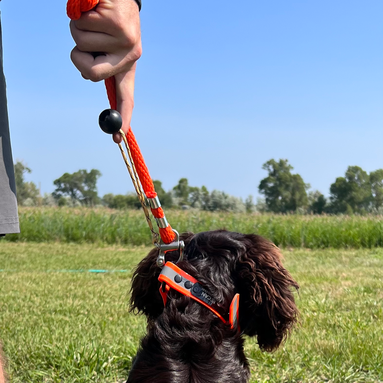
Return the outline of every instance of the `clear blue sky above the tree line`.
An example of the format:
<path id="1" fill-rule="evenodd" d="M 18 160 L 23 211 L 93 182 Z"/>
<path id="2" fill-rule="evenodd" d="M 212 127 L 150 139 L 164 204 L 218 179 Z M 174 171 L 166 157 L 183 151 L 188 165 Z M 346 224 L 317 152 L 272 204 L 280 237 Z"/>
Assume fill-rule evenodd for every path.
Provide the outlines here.
<path id="1" fill-rule="evenodd" d="M 65 2 L 2 0 L 13 158 L 51 192 L 100 169 L 100 195 L 133 187 L 101 132 L 103 82 L 70 61 Z M 383 167 L 381 1 L 143 0 L 132 128 L 152 178 L 257 195 L 270 158 L 313 189 L 348 165 Z"/>

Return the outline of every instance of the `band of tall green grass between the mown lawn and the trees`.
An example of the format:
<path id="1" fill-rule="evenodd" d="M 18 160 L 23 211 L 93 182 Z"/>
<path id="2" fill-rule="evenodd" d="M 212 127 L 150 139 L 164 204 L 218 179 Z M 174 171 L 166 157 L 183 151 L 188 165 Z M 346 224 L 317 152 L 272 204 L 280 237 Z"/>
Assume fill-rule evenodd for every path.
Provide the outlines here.
<path id="1" fill-rule="evenodd" d="M 178 232 L 226 228 L 258 233 L 280 247 L 383 247 L 383 217 L 376 215 L 260 215 L 170 209 L 166 216 Z M 141 210 L 21 208 L 20 225 L 21 233 L 7 235 L 7 241 L 151 243 L 151 233 Z"/>

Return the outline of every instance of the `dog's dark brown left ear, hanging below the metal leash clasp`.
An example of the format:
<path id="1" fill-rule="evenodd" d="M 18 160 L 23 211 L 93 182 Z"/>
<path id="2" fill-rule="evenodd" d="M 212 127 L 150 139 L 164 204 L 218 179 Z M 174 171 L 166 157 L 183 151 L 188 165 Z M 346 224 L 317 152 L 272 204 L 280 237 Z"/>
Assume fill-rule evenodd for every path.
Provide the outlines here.
<path id="1" fill-rule="evenodd" d="M 180 235 L 180 239 L 184 240 L 186 245 L 191 235 L 193 233 L 183 233 Z M 156 262 L 158 253 L 157 248 L 151 250 L 134 269 L 132 277 L 129 311 L 145 314 L 148 319 L 155 319 L 164 310 L 164 301 L 159 291 L 158 277 L 161 268 L 157 266 Z M 178 250 L 169 251 L 166 253 L 165 261 L 176 262 L 179 256 Z"/>

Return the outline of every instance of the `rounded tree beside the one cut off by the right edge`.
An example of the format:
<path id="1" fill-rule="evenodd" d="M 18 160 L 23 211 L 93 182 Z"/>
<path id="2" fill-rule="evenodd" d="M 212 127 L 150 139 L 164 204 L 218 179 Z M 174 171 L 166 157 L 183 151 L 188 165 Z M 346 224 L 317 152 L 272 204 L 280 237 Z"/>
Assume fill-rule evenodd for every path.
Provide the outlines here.
<path id="1" fill-rule="evenodd" d="M 370 176 L 359 166 L 349 166 L 344 177 L 330 186 L 330 211 L 334 213 L 363 213 L 372 201 Z"/>

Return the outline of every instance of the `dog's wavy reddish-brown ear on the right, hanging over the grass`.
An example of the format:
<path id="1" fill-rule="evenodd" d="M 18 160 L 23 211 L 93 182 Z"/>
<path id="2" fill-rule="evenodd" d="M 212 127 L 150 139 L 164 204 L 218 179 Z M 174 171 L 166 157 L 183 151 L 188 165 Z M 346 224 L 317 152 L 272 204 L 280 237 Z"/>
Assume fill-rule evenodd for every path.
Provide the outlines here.
<path id="1" fill-rule="evenodd" d="M 299 286 L 283 268 L 279 249 L 259 235 L 245 235 L 246 251 L 237 261 L 239 321 L 246 335 L 257 336 L 262 351 L 285 341 L 297 321 L 292 288 Z"/>

